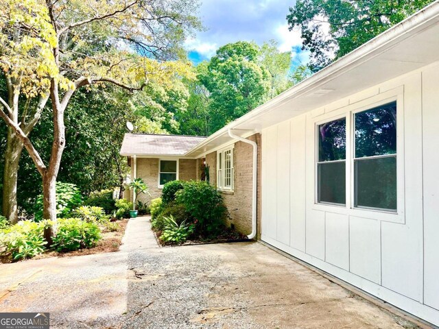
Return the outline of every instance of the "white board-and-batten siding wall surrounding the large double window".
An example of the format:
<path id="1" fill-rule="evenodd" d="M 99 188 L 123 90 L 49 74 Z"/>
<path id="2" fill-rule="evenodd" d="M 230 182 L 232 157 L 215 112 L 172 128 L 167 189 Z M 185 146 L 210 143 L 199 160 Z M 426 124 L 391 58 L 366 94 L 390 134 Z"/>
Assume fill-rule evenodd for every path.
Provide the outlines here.
<path id="1" fill-rule="evenodd" d="M 316 204 L 316 125 L 346 116 L 349 132 L 353 112 L 389 101 L 398 212 Z M 265 128 L 262 145 L 261 239 L 439 326 L 439 63 Z"/>

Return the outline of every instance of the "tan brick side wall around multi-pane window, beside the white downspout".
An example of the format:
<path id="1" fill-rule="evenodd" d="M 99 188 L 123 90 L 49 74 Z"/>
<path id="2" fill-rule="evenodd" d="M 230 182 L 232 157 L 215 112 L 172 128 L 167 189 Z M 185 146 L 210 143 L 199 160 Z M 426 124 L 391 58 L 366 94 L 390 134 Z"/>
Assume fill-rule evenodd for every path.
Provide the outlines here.
<path id="1" fill-rule="evenodd" d="M 261 222 L 261 135 L 254 134 L 248 138 L 258 145 L 258 239 L 260 237 Z M 216 152 L 206 155 L 206 163 L 210 167 L 211 184 L 216 184 Z M 234 224 L 236 230 L 243 234 L 252 232 L 252 168 L 253 147 L 247 143 L 237 142 L 233 149 L 233 167 L 235 175 L 235 191 L 223 191 L 224 202 L 230 214 L 228 224 Z"/>

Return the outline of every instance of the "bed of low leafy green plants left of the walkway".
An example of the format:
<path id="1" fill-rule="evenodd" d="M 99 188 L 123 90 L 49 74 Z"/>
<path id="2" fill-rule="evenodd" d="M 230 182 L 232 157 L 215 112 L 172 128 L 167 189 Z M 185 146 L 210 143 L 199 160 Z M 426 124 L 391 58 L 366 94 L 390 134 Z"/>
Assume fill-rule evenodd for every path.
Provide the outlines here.
<path id="1" fill-rule="evenodd" d="M 1 263 L 44 254 L 60 256 L 61 253 L 80 252 L 94 247 L 99 247 L 102 252 L 119 249 L 125 221 L 114 221 L 103 208 L 97 206 L 80 206 L 71 210 L 69 215 L 71 217 L 58 219 L 57 234 L 52 237 L 51 244 L 45 239 L 44 231 L 54 225 L 53 221 L 27 220 L 10 225 L 5 217 L 0 217 Z"/>

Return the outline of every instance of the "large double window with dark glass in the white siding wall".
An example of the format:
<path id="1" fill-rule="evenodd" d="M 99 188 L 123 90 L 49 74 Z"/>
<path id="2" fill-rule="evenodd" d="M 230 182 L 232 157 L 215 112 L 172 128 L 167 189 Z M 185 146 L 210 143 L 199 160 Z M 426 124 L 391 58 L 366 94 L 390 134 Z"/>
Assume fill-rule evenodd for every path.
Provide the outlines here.
<path id="1" fill-rule="evenodd" d="M 396 212 L 396 101 L 351 115 L 351 127 L 346 118 L 317 125 L 317 202 L 346 206 L 348 165 L 352 208 Z M 352 145 L 349 159 L 346 136 Z"/>

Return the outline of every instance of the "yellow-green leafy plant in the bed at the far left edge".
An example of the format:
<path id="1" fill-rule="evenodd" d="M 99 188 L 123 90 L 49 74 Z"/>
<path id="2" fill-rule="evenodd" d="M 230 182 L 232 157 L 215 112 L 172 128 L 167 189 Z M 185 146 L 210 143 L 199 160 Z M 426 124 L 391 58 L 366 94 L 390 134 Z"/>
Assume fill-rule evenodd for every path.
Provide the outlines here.
<path id="1" fill-rule="evenodd" d="M 43 237 L 45 221 L 19 221 L 14 226 L 0 230 L 0 246 L 3 254 L 12 256 L 14 260 L 32 258 L 45 251 Z"/>

